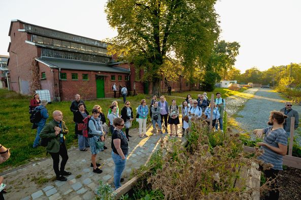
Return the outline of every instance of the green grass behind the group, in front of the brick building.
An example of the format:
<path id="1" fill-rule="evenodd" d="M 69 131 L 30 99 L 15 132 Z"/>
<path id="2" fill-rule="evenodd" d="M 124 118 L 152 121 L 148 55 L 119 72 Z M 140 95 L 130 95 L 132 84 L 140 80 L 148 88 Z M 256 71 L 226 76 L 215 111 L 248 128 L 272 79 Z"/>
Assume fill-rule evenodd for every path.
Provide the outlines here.
<path id="1" fill-rule="evenodd" d="M 214 93 L 220 92 L 222 97 L 236 94 L 238 92 L 228 91 L 227 89 L 217 89 Z M 203 94 L 202 91 L 187 91 L 185 93 L 173 93 L 173 96 L 165 96 L 166 101 L 171 104 L 172 99 L 176 99 L 177 104 L 181 105 L 182 101 L 186 98 L 187 94 L 191 94 L 193 98 L 197 97 L 197 94 Z M 210 98 L 211 93 L 208 93 Z M 16 167 L 26 164 L 30 161 L 35 161 L 41 157 L 46 156 L 44 147 L 32 148 L 32 144 L 35 140 L 37 129 L 32 130 L 32 124 L 29 122 L 28 106 L 31 97 L 22 96 L 18 93 L 8 91 L 6 89 L 0 89 L 0 104 L 3 105 L 0 109 L 0 144 L 3 144 L 11 150 L 11 157 L 7 162 L 1 165 L 0 171 L 7 170 L 9 167 Z M 151 95 L 139 94 L 137 96 L 129 96 L 126 98 L 130 101 L 133 108 L 134 117 L 136 116 L 136 109 L 140 105 L 141 99 L 146 99 L 147 105 L 149 105 Z M 109 106 L 112 101 L 117 100 L 119 109 L 123 107 L 122 97 L 113 99 L 96 99 L 85 101 L 87 110 L 91 112 L 93 105 L 101 105 L 105 116 L 107 116 Z M 77 140 L 74 139 L 74 122 L 73 113 L 70 111 L 71 101 L 53 102 L 47 104 L 49 118 L 47 123 L 52 120 L 52 112 L 54 110 L 60 110 L 63 113 L 63 121 L 69 129 L 69 134 L 66 135 L 66 144 L 70 148 L 71 146 L 77 146 Z M 107 119 L 108 122 L 108 119 Z M 132 127 L 138 127 L 138 123 L 133 121 Z"/>

